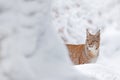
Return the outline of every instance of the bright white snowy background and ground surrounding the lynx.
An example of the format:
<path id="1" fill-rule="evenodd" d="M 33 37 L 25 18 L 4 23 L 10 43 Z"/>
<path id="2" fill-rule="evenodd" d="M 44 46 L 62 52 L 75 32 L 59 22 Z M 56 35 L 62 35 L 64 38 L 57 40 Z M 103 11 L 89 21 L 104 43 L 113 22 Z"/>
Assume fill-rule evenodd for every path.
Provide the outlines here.
<path id="1" fill-rule="evenodd" d="M 120 80 L 120 0 L 54 0 L 53 25 L 65 43 L 85 43 L 86 28 L 101 30 L 95 64 L 75 66 L 100 80 Z"/>

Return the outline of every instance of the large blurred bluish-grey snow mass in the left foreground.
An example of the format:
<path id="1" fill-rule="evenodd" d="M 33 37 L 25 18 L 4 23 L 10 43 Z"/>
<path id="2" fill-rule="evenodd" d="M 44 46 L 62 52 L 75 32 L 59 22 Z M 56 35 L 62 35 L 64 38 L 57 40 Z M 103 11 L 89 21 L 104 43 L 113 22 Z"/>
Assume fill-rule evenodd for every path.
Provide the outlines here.
<path id="1" fill-rule="evenodd" d="M 51 0 L 0 0 L 0 80 L 96 80 L 72 66 Z"/>

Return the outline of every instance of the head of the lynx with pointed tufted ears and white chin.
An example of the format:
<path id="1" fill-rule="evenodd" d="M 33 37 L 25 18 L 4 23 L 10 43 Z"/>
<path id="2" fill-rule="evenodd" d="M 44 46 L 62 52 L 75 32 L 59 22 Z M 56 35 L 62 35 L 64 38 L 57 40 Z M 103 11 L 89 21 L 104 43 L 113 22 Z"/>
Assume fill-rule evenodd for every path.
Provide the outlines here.
<path id="1" fill-rule="evenodd" d="M 86 46 L 89 51 L 94 54 L 98 54 L 99 45 L 100 45 L 100 30 L 96 34 L 89 33 L 88 29 L 86 30 Z"/>

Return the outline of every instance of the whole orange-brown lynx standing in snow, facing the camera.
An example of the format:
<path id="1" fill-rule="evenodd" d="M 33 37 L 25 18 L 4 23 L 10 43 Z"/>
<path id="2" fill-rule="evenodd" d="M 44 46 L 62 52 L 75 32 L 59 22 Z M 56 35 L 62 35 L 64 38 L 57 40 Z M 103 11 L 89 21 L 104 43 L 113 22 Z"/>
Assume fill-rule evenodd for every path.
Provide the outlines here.
<path id="1" fill-rule="evenodd" d="M 100 30 L 96 34 L 91 34 L 87 29 L 86 34 L 85 44 L 66 44 L 75 65 L 96 62 L 99 55 Z"/>

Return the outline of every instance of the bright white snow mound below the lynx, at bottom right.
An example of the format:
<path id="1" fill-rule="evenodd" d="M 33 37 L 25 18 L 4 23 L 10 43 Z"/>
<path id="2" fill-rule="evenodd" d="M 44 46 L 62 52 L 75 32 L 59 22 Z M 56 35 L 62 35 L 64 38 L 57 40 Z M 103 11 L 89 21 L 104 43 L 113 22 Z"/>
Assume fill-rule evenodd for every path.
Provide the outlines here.
<path id="1" fill-rule="evenodd" d="M 116 71 L 97 63 L 78 65 L 75 66 L 75 69 L 91 77 L 94 76 L 98 78 L 98 80 L 120 80 L 120 75 Z"/>

